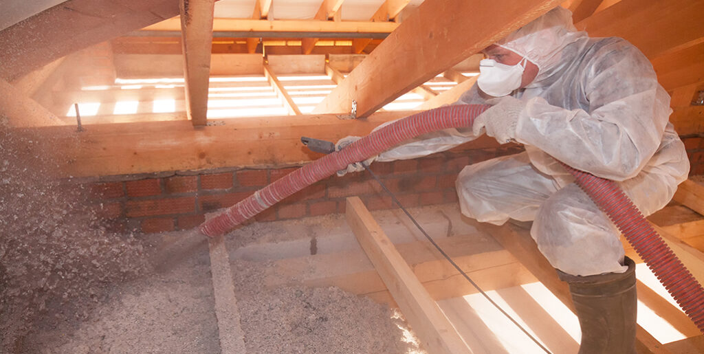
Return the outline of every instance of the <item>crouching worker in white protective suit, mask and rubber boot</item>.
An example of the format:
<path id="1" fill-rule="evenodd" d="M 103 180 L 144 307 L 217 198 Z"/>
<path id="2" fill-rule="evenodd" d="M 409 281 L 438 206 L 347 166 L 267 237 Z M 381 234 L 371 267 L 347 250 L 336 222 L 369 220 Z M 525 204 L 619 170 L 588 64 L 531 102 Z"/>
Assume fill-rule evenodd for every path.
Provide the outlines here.
<path id="1" fill-rule="evenodd" d="M 523 144 L 522 153 L 460 172 L 462 213 L 496 225 L 532 221 L 541 253 L 570 284 L 579 352 L 634 352 L 634 263 L 624 258 L 615 225 L 558 160 L 616 181 L 643 215 L 663 208 L 689 173 L 684 144 L 668 122 L 670 96 L 635 46 L 577 32 L 572 13 L 560 7 L 484 55 L 477 85 L 457 102 L 493 105 L 471 129 L 426 134 L 367 163 L 426 156 L 484 133 Z"/>

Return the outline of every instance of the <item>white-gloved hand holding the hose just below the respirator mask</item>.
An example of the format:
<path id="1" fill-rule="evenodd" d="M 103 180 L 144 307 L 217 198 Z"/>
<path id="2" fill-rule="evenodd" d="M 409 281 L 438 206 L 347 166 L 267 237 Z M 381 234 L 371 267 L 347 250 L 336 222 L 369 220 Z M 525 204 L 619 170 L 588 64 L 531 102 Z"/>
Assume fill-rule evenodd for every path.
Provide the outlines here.
<path id="1" fill-rule="evenodd" d="M 501 144 L 514 141 L 518 116 L 525 108 L 525 103 L 512 96 L 490 99 L 486 103 L 494 106 L 474 119 L 472 124 L 474 135 L 481 135 L 482 128 L 485 128 L 486 135 L 494 137 Z"/>

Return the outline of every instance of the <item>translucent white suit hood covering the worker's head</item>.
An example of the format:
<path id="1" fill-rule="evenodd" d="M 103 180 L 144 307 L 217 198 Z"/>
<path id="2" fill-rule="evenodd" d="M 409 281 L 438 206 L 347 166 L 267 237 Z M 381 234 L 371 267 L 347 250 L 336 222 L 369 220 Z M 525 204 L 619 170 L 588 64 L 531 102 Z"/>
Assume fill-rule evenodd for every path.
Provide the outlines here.
<path id="1" fill-rule="evenodd" d="M 587 39 L 586 32 L 577 32 L 572 25 L 572 12 L 558 6 L 508 34 L 496 45 L 514 51 L 538 66 L 538 75 L 527 86 L 537 87 L 549 84 L 547 79 L 569 65 L 572 56 L 582 48 L 570 44 L 584 43 Z"/>

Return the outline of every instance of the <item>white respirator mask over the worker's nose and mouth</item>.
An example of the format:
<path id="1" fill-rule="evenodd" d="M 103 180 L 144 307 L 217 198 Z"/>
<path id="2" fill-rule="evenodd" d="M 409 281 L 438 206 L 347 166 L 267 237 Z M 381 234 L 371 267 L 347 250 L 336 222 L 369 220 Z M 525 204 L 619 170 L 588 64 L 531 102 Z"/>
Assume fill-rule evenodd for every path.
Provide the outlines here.
<path id="1" fill-rule="evenodd" d="M 477 84 L 486 94 L 494 97 L 506 96 L 521 86 L 527 59 L 523 57 L 516 65 L 496 63 L 494 59 L 479 62 Z"/>

